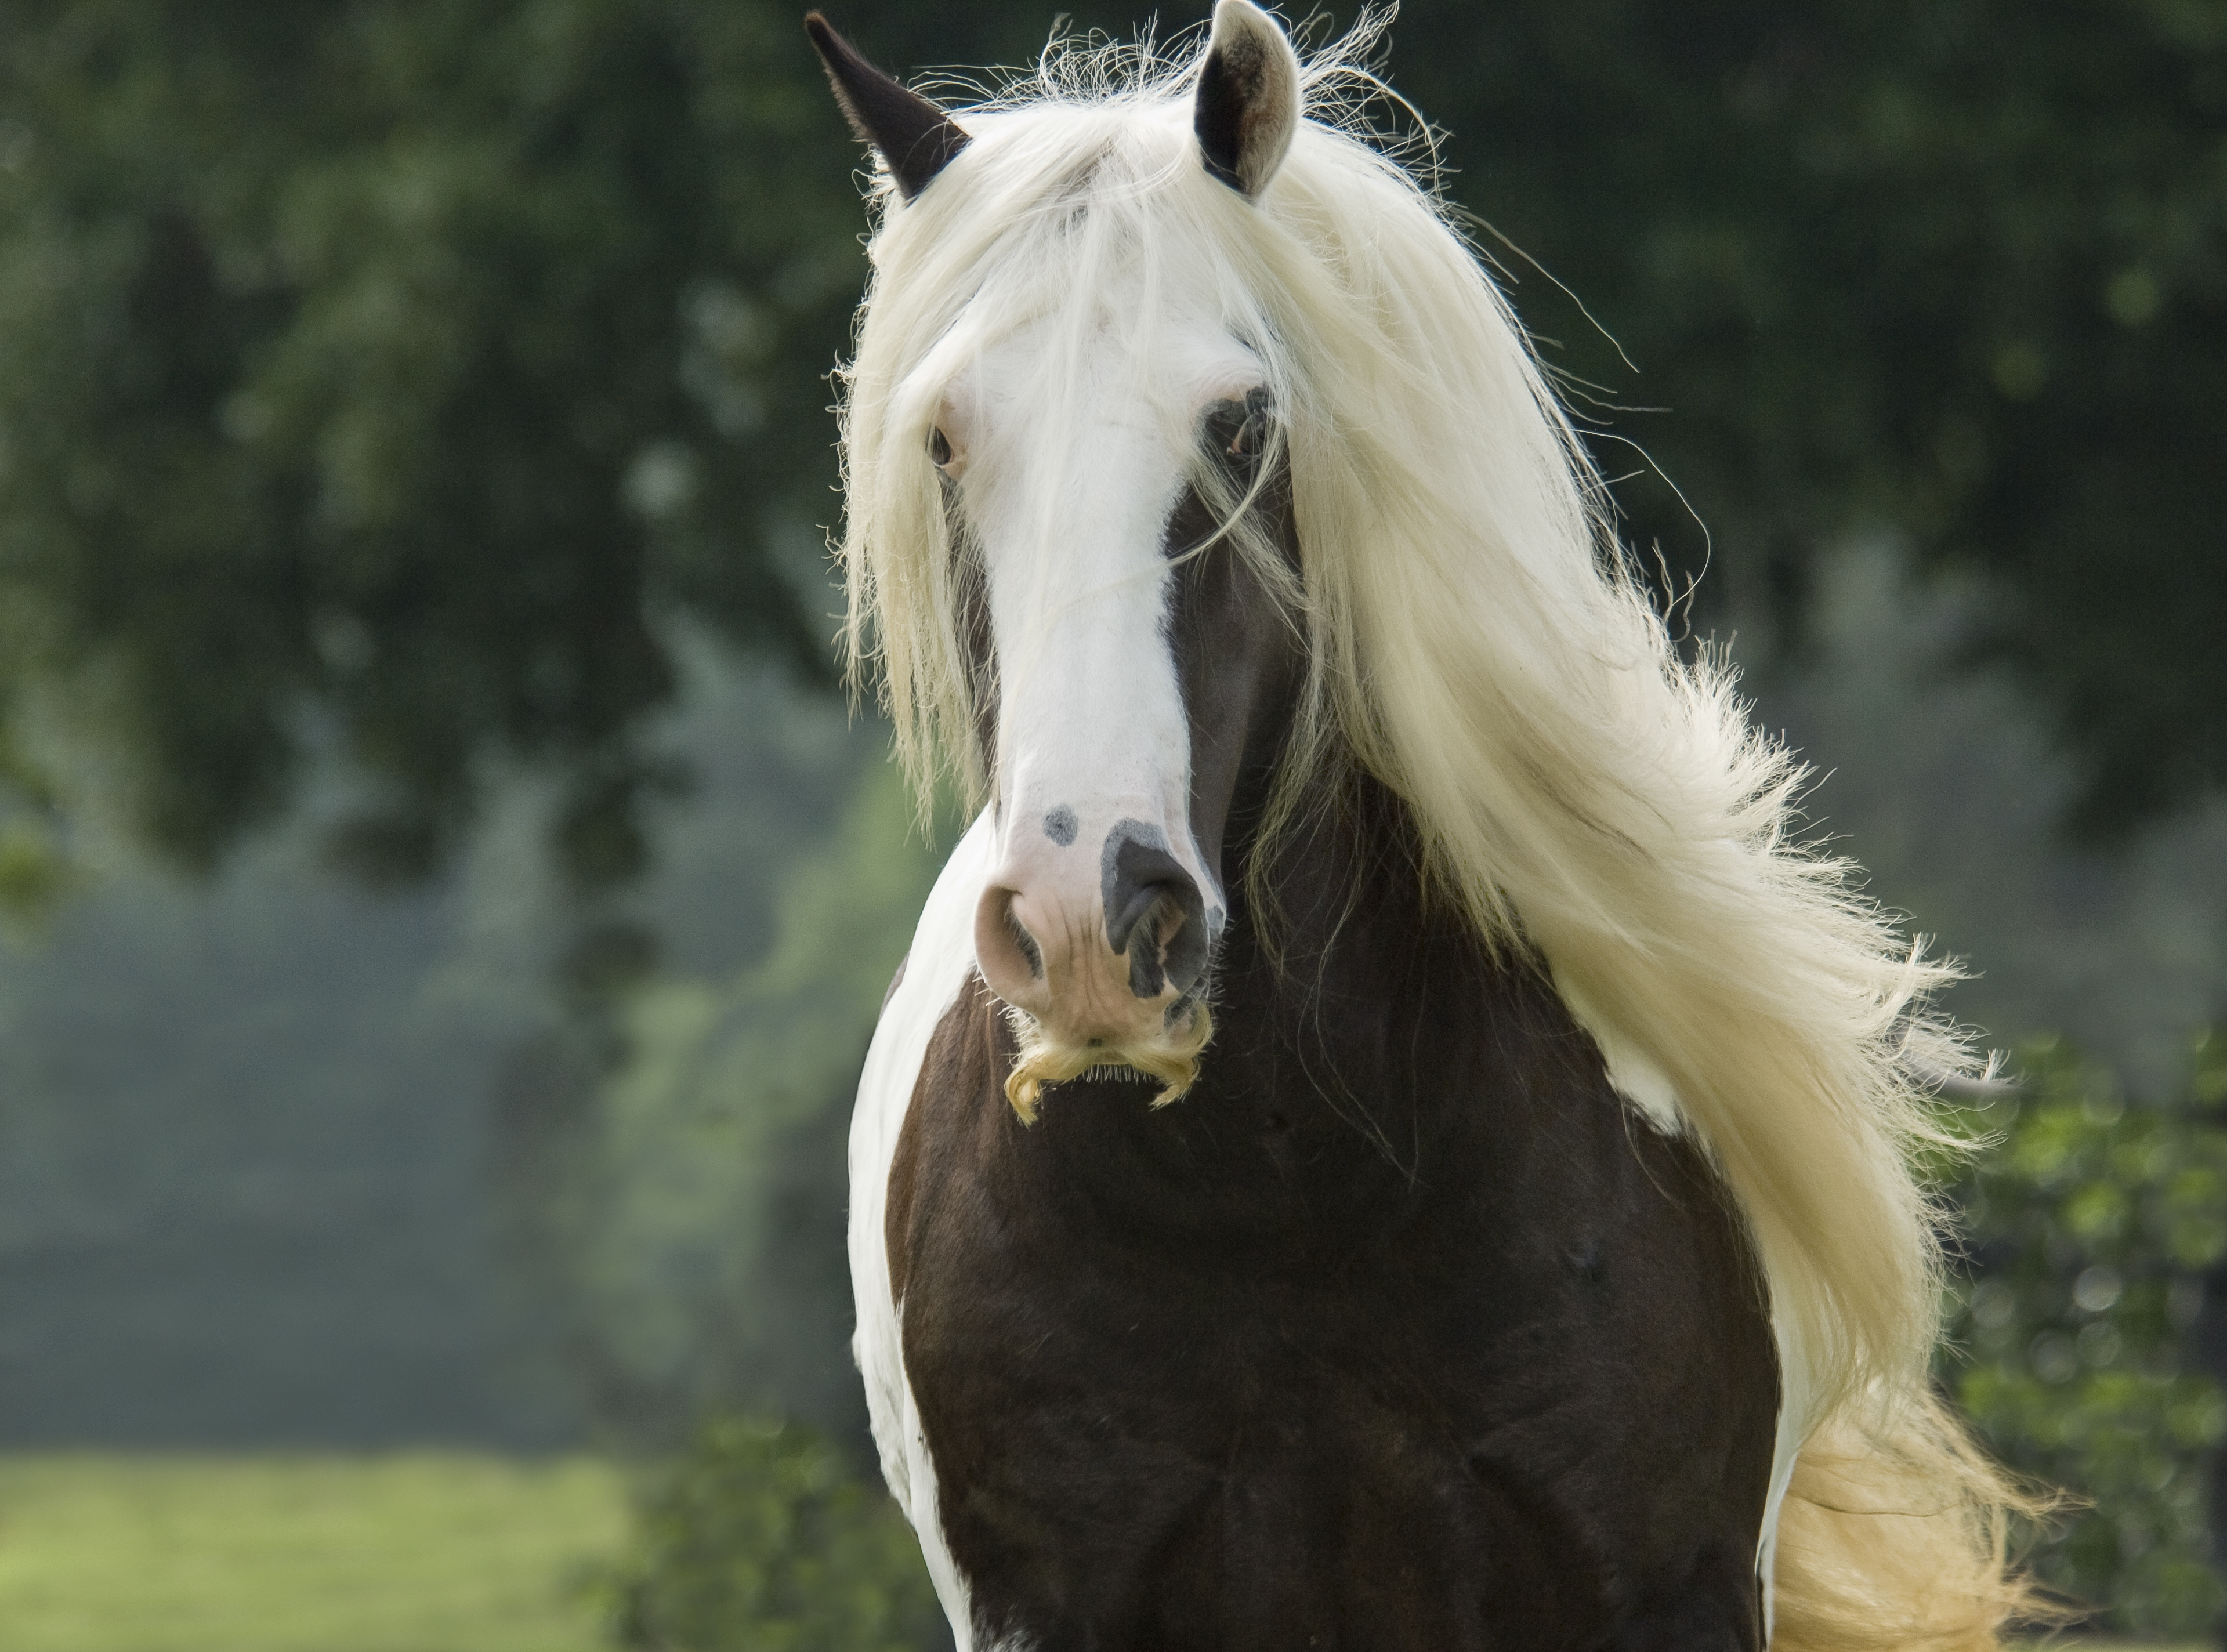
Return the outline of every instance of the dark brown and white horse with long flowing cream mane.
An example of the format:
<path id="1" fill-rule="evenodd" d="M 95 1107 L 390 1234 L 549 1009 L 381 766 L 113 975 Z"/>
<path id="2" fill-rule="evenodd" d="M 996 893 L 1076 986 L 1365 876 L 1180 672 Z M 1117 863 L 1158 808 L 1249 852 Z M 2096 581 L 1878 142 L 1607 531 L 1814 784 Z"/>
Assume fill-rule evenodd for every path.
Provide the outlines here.
<path id="1" fill-rule="evenodd" d="M 1995 1645 L 1949 971 L 1668 637 L 1367 125 L 1383 18 L 1218 0 L 960 109 L 806 29 L 877 160 L 844 646 L 980 810 L 848 1149 L 958 1645 Z"/>

